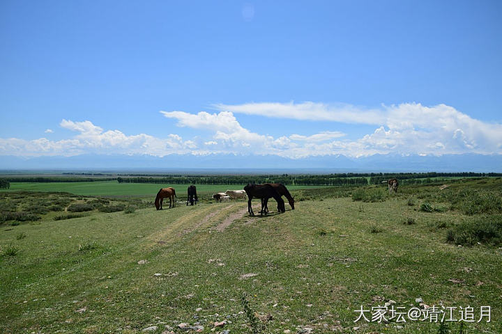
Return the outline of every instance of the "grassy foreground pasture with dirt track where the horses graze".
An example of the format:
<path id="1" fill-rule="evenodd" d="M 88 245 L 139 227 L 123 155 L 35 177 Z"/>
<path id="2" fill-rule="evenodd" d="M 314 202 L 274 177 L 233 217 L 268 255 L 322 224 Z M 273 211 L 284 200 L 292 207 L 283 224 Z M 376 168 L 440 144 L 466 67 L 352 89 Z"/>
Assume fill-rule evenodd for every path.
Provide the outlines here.
<path id="1" fill-rule="evenodd" d="M 160 187 L 88 183 L 76 185 L 80 195 L 142 196 L 148 186 Z M 443 191 L 404 186 L 392 196 L 384 186 L 296 189 L 295 210 L 286 205 L 284 214 L 263 217 L 248 216 L 243 201 L 206 201 L 7 221 L 0 225 L 0 333 L 195 333 L 181 323 L 202 326 L 202 333 L 252 333 L 243 295 L 259 333 L 460 333 L 459 322 L 444 332 L 429 321 L 354 323 L 361 305 L 392 300 L 409 310 L 420 308 L 417 298 L 429 306 L 471 306 L 476 321 L 480 307 L 490 305 L 491 322 L 465 323 L 462 331 L 502 333 L 502 244 L 446 241 L 447 231 L 463 223 L 500 225 L 501 189 L 500 179 Z M 15 189 L 3 196 L 3 207 L 29 202 Z M 425 202 L 432 212 L 421 209 Z M 214 321 L 227 324 L 211 331 Z"/>

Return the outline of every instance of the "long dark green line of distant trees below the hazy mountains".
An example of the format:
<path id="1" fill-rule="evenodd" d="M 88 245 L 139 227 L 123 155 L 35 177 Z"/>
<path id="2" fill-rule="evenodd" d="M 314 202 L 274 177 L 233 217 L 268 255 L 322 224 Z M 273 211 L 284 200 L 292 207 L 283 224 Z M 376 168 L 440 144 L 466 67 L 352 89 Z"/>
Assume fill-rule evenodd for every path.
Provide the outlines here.
<path id="1" fill-rule="evenodd" d="M 67 173 L 70 174 L 70 173 Z M 400 180 L 400 184 L 427 184 L 446 182 L 448 177 L 501 177 L 502 173 L 336 173 L 325 175 L 148 175 L 127 174 L 118 177 L 89 177 L 100 174 L 80 174 L 54 177 L 3 177 L 2 186 L 8 182 L 96 182 L 117 181 L 119 183 L 153 183 L 153 184 L 248 184 L 248 183 L 282 183 L 303 186 L 360 186 L 380 184 L 392 177 Z M 112 176 L 107 174 L 106 176 Z"/>

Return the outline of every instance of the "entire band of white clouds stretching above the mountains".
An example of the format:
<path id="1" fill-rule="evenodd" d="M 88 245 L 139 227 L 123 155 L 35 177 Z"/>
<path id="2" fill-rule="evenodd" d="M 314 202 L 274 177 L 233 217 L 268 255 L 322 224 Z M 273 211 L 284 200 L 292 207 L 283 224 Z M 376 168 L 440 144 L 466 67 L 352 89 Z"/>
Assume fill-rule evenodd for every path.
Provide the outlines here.
<path id="1" fill-rule="evenodd" d="M 61 120 L 60 126 L 73 136 L 60 141 L 38 138 L 0 138 L 0 155 L 71 156 L 98 154 L 276 154 L 301 158 L 325 154 L 361 157 L 372 154 L 502 154 L 502 125 L 476 120 L 452 106 L 423 106 L 407 103 L 364 109 L 350 105 L 332 106 L 314 102 L 301 104 L 218 104 L 220 111 L 188 113 L 160 111 L 178 127 L 204 130 L 206 134 L 185 141 L 177 134 L 157 138 L 149 134 L 127 135 L 119 129 L 105 130 L 89 120 Z M 227 110 L 223 110 L 227 109 Z M 246 129 L 236 114 L 291 118 L 318 122 L 322 131 L 312 134 L 270 136 L 259 129 Z M 359 138 L 348 138 L 340 123 L 373 125 Z M 285 130 L 285 129 L 284 129 Z"/>

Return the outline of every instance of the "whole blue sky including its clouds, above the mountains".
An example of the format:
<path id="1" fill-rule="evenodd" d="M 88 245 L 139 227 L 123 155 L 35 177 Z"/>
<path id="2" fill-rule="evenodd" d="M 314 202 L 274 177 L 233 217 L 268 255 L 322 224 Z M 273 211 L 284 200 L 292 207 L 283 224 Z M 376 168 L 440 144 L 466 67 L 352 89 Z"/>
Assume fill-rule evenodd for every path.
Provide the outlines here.
<path id="1" fill-rule="evenodd" d="M 0 1 L 0 156 L 502 154 L 501 1 Z"/>

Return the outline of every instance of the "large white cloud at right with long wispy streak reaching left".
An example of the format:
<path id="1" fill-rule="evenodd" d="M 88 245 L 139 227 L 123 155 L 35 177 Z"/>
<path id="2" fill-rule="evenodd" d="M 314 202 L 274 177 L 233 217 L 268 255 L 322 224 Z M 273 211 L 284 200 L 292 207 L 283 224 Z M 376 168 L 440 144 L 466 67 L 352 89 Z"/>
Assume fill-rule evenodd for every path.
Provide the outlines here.
<path id="1" fill-rule="evenodd" d="M 367 134 L 355 141 L 333 141 L 330 145 L 319 145 L 317 152 L 321 152 L 322 149 L 331 149 L 333 154 L 340 153 L 355 157 L 390 152 L 402 154 L 502 153 L 501 124 L 476 120 L 445 104 L 423 106 L 418 103 L 404 103 L 382 106 L 380 109 L 314 102 L 215 104 L 213 106 L 216 109 L 233 113 L 269 118 L 377 125 L 372 134 Z M 325 137 L 322 133 L 316 136 L 317 138 Z M 334 136 L 336 138 L 336 134 Z M 307 137 L 291 135 L 289 138 L 298 141 Z"/>

